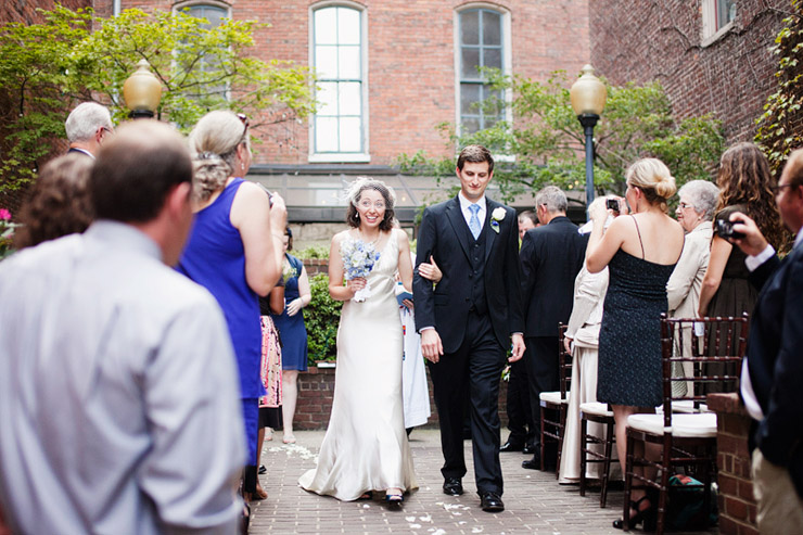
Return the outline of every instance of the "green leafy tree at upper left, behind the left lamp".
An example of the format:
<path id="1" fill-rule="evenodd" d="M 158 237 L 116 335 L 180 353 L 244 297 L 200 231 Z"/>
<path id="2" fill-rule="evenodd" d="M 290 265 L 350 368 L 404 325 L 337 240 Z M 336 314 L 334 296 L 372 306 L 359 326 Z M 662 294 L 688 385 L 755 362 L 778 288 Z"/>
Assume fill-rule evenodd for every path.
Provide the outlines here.
<path id="1" fill-rule="evenodd" d="M 144 59 L 163 85 L 162 120 L 189 129 L 209 110 L 231 109 L 254 129 L 307 116 L 314 110 L 306 67 L 251 55 L 254 21 L 207 21 L 183 13 L 126 10 L 101 18 L 91 10 L 56 7 L 43 22 L 0 25 L 0 192 L 21 188 L 64 137 L 76 102 L 107 104 L 127 115 L 123 84 Z"/>

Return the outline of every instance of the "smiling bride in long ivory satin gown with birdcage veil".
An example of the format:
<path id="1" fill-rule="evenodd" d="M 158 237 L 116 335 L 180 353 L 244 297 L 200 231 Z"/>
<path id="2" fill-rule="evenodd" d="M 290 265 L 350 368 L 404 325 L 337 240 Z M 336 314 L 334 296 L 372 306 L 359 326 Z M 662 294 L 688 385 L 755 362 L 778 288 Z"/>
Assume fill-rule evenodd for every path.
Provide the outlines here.
<path id="1" fill-rule="evenodd" d="M 399 505 L 418 488 L 407 442 L 401 403 L 401 322 L 395 297 L 398 269 L 412 283 L 407 233 L 393 228 L 395 195 L 380 180 L 359 178 L 348 192 L 350 229 L 332 238 L 329 293 L 344 301 L 337 330 L 337 368 L 329 428 L 318 466 L 301 476 L 307 491 L 344 501 L 384 492 Z M 372 246 L 380 253 L 366 278 L 343 284 L 344 245 Z M 348 247 L 346 247 L 348 249 Z M 365 301 L 353 300 L 359 290 Z"/>

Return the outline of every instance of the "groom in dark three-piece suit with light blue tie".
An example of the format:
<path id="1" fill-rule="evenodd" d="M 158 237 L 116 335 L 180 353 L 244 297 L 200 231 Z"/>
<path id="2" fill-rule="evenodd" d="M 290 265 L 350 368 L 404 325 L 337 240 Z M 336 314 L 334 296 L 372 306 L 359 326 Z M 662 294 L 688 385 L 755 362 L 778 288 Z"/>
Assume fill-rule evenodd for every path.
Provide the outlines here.
<path id="1" fill-rule="evenodd" d="M 505 510 L 499 463 L 499 379 L 512 336 L 524 354 L 515 211 L 485 196 L 494 176 L 487 149 L 457 160 L 460 193 L 424 211 L 413 273 L 416 328 L 430 361 L 444 453 L 444 493 L 463 493 L 463 416 L 471 416 L 476 489 L 484 511 Z M 430 257 L 443 271 L 433 288 L 418 272 Z"/>

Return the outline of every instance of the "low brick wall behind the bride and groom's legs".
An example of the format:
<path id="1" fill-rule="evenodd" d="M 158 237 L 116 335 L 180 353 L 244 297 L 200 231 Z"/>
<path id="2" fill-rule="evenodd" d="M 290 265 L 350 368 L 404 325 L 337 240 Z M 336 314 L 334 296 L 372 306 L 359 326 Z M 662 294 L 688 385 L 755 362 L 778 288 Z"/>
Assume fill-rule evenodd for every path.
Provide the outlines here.
<path id="1" fill-rule="evenodd" d="M 327 429 L 329 424 L 329 415 L 332 411 L 332 398 L 334 396 L 334 368 L 309 368 L 306 373 L 298 374 L 298 402 L 295 409 L 295 419 L 293 426 L 299 430 Z M 426 381 L 430 392 L 430 406 L 432 416 L 425 426 L 437 426 L 437 411 L 435 410 L 435 400 L 432 397 L 432 381 L 430 380 L 429 369 L 426 370 Z M 508 424 L 508 413 L 505 410 L 505 399 L 507 399 L 507 385 L 505 381 L 499 386 L 499 418 L 502 428 Z M 502 440 L 507 432 L 502 431 Z"/>

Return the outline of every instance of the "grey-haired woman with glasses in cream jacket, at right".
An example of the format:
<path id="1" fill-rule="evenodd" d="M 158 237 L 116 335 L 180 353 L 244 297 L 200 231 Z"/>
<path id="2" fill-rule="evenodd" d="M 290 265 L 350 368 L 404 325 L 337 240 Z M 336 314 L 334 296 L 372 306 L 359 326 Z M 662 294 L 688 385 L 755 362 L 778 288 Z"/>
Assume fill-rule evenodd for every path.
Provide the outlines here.
<path id="1" fill-rule="evenodd" d="M 666 283 L 670 316 L 674 318 L 697 316 L 700 289 L 711 256 L 711 239 L 714 234 L 712 220 L 718 193 L 719 189 L 706 180 L 687 182 L 678 192 L 680 202 L 675 215 L 686 231 L 686 243 L 680 259 L 677 260 L 677 266 Z M 686 334 L 684 343 L 688 347 L 685 354 L 688 355 L 691 349 L 691 333 Z M 679 351 L 679 347 L 676 351 Z M 691 365 L 692 362 L 683 362 L 684 367 L 689 368 L 686 370 L 687 374 L 691 374 Z M 687 393 L 687 385 L 676 381 L 672 383 L 672 390 L 674 395 L 681 396 Z"/>

